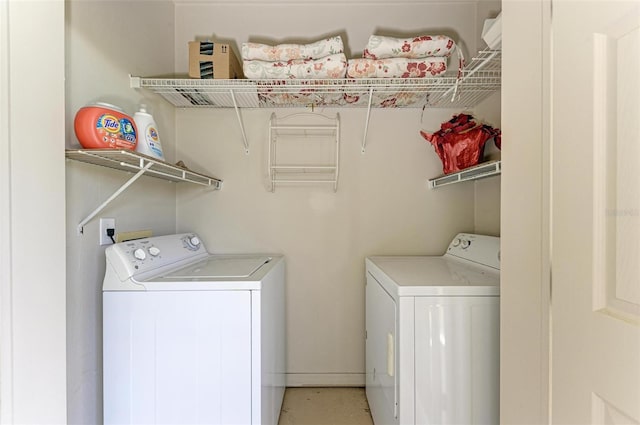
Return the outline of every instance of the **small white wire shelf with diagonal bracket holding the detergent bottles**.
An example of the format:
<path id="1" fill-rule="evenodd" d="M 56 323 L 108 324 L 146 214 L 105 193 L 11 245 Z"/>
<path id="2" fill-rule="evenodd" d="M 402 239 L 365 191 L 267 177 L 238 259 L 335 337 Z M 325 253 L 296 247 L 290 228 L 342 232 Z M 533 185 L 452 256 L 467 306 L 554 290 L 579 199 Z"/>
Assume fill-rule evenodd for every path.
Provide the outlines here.
<path id="1" fill-rule="evenodd" d="M 135 172 L 118 190 L 116 190 L 98 208 L 93 210 L 84 220 L 78 224 L 78 233 L 82 234 L 84 225 L 102 211 L 111 201 L 124 192 L 133 182 L 143 174 L 171 182 L 188 182 L 201 186 L 208 186 L 219 190 L 222 188 L 222 180 L 207 176 L 202 173 L 169 164 L 165 161 L 151 158 L 131 150 L 118 149 L 68 149 L 66 157 L 76 161 L 100 165 L 120 171 Z"/>

